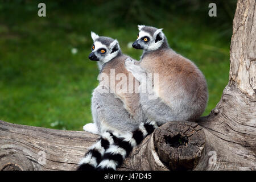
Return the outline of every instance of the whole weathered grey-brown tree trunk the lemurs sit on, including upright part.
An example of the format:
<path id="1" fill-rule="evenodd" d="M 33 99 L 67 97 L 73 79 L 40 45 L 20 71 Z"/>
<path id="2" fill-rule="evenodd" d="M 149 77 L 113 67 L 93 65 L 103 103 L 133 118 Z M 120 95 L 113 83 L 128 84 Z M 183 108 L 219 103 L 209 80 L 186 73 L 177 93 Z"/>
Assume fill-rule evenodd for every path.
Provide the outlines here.
<path id="1" fill-rule="evenodd" d="M 256 169 L 255 0 L 238 0 L 229 84 L 198 123 L 169 122 L 134 148 L 121 170 Z M 73 170 L 98 136 L 0 121 L 0 170 Z"/>

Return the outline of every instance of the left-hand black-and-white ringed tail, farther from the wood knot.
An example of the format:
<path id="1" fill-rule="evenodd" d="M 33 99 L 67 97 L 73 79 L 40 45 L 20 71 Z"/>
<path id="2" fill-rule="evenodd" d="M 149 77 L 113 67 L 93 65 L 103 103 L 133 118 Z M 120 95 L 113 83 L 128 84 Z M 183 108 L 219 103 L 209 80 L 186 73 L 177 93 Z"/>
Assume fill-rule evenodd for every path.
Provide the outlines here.
<path id="1" fill-rule="evenodd" d="M 77 171 L 93 171 L 96 170 L 98 164 L 101 162 L 105 151 L 114 143 L 113 134 L 105 131 L 101 134 L 101 138 L 89 147 L 89 151 L 79 163 Z"/>

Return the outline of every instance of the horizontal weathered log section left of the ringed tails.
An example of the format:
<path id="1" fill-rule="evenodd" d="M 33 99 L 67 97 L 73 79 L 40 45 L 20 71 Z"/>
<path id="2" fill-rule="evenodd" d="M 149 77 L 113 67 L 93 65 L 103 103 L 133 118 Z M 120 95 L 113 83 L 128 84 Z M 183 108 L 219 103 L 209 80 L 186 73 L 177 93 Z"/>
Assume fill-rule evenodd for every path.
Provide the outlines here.
<path id="1" fill-rule="evenodd" d="M 97 138 L 85 131 L 0 121 L 0 170 L 74 170 Z"/>

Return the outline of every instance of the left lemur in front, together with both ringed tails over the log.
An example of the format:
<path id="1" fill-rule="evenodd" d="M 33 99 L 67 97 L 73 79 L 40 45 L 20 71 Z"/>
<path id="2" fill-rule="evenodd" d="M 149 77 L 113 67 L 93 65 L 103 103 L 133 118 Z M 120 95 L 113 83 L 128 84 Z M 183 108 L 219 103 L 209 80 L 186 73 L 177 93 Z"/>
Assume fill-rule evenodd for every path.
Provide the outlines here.
<path id="1" fill-rule="evenodd" d="M 99 76 L 104 79 L 99 80 L 92 93 L 94 123 L 85 125 L 84 130 L 100 134 L 101 138 L 89 148 L 77 170 L 115 170 L 133 147 L 158 125 L 144 117 L 137 91 L 139 83 L 125 68 L 125 60 L 130 57 L 122 53 L 118 41 L 94 32 L 91 36 L 93 46 L 89 59 L 97 61 Z M 118 85 L 121 79 L 116 78 L 118 75 L 132 79 L 132 83 L 131 80 L 125 82 L 127 92 L 111 86 Z"/>

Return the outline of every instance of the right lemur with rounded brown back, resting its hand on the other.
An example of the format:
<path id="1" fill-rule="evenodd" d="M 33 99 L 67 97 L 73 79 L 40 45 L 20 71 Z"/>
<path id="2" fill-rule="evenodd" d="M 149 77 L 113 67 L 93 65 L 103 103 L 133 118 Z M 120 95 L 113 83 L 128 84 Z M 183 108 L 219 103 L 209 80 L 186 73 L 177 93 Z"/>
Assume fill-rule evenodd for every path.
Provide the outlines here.
<path id="1" fill-rule="evenodd" d="M 126 60 L 126 68 L 134 77 L 145 82 L 141 75 L 158 74 L 154 85 L 155 99 L 148 92 L 140 94 L 144 114 L 151 121 L 163 124 L 170 121 L 195 121 L 203 114 L 208 101 L 207 82 L 203 73 L 191 60 L 168 46 L 162 29 L 138 26 L 139 34 L 133 43 L 143 49 L 141 61 Z"/>

